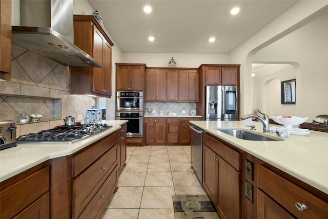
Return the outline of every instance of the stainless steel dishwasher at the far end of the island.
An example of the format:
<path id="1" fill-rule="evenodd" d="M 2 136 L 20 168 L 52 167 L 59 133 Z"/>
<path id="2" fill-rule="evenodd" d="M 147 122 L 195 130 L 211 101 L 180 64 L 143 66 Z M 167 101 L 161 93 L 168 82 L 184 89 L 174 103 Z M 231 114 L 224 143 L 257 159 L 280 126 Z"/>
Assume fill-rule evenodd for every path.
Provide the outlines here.
<path id="1" fill-rule="evenodd" d="M 191 166 L 198 180 L 203 183 L 203 130 L 189 125 L 191 129 Z"/>

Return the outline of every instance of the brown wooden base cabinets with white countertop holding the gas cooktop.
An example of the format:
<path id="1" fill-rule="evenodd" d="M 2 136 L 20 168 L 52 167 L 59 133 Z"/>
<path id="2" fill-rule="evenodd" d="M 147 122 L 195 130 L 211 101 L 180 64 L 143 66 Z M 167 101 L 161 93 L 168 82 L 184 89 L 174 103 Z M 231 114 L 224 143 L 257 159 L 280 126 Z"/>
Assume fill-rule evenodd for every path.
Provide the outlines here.
<path id="1" fill-rule="evenodd" d="M 112 127 L 71 144 L 18 144 L 2 150 L 1 217 L 98 217 L 126 161 L 127 121 L 106 123 Z"/>

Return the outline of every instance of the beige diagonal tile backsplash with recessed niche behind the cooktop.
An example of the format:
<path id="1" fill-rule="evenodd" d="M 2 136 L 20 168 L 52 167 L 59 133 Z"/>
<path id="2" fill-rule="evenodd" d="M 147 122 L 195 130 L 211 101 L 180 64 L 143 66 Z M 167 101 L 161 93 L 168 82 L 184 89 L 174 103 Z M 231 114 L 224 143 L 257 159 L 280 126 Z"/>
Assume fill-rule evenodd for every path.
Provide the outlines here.
<path id="1" fill-rule="evenodd" d="M 0 120 L 15 121 L 17 136 L 63 125 L 68 115 L 84 122 L 93 97 L 69 94 L 69 67 L 16 45 L 11 54 L 11 81 L 0 81 Z M 19 124 L 22 113 L 41 114 L 42 120 Z"/>

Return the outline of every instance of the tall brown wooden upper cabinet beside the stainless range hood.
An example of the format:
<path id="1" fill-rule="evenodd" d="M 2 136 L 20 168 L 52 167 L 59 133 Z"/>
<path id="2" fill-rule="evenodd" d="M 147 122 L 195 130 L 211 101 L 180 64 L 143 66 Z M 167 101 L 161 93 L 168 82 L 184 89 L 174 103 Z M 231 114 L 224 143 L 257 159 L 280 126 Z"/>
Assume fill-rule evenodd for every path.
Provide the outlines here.
<path id="1" fill-rule="evenodd" d="M 112 46 L 92 15 L 74 15 L 74 44 L 95 58 L 102 68 L 72 67 L 71 94 L 112 95 Z"/>

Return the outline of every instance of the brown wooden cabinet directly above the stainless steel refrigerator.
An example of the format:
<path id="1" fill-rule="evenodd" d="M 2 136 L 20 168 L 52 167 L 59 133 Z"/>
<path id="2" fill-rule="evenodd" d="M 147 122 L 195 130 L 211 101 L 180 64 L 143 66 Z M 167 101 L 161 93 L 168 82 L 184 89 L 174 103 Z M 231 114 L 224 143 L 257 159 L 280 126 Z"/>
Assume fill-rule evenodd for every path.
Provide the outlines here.
<path id="1" fill-rule="evenodd" d="M 240 65 L 201 65 L 205 85 L 236 85 L 239 86 Z"/>

